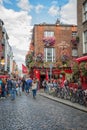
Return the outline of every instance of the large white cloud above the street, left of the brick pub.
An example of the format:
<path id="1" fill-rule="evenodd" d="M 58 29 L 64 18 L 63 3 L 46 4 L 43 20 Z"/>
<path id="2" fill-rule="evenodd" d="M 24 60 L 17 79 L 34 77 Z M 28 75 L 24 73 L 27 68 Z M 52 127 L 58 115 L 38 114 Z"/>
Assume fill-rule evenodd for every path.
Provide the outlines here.
<path id="1" fill-rule="evenodd" d="M 29 49 L 32 17 L 26 11 L 16 12 L 0 5 L 0 19 L 3 20 L 9 36 L 8 41 L 12 46 L 14 59 L 20 66 L 20 63 L 25 62 L 25 55 Z"/>

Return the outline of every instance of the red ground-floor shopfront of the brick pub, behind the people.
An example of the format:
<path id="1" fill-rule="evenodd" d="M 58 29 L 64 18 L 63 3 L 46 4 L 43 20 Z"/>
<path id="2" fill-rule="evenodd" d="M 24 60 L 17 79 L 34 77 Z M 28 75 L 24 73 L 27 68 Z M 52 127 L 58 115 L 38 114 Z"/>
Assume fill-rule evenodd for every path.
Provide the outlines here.
<path id="1" fill-rule="evenodd" d="M 33 78 L 37 78 L 40 81 L 40 86 L 42 87 L 42 81 L 46 79 L 47 81 L 50 79 L 61 79 L 62 81 L 65 80 L 65 77 L 68 79 L 72 76 L 72 70 L 69 69 L 52 69 L 52 76 L 50 76 L 50 68 L 48 69 L 34 69 L 33 70 Z"/>

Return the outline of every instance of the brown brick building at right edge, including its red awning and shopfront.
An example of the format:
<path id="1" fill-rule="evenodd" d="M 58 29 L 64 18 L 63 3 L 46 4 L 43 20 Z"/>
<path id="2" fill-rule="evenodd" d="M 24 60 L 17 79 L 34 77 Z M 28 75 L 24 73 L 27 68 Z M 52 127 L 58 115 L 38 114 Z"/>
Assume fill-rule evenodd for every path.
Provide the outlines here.
<path id="1" fill-rule="evenodd" d="M 87 0 L 77 0 L 78 56 L 79 75 L 82 86 L 87 89 Z"/>

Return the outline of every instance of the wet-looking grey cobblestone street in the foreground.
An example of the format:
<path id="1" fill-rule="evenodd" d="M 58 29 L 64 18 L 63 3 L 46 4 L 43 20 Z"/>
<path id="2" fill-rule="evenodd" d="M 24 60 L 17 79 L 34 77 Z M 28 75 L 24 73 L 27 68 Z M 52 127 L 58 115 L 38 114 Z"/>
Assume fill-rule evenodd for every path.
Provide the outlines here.
<path id="1" fill-rule="evenodd" d="M 87 113 L 37 95 L 0 100 L 0 130 L 87 130 Z"/>

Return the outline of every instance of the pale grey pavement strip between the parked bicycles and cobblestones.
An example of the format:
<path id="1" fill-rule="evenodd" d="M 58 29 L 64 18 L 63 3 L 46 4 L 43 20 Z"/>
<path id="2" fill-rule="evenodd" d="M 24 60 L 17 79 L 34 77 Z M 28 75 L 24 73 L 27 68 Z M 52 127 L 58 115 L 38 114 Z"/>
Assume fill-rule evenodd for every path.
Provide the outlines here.
<path id="1" fill-rule="evenodd" d="M 56 101 L 56 102 L 59 102 L 59 103 L 68 105 L 68 106 L 73 107 L 73 108 L 75 108 L 75 109 L 78 109 L 78 110 L 87 112 L 87 107 L 82 106 L 82 105 L 80 105 L 80 104 L 78 104 L 78 103 L 72 103 L 72 102 L 69 101 L 69 100 L 64 100 L 64 99 L 61 99 L 61 98 L 58 98 L 58 97 L 53 97 L 51 94 L 45 93 L 43 90 L 40 90 L 40 91 L 39 91 L 39 95 L 41 95 L 41 96 L 43 96 L 43 97 L 46 97 L 46 98 L 48 98 L 48 99 L 51 99 L 51 100 L 53 100 L 53 101 Z"/>

